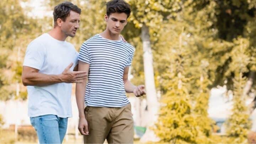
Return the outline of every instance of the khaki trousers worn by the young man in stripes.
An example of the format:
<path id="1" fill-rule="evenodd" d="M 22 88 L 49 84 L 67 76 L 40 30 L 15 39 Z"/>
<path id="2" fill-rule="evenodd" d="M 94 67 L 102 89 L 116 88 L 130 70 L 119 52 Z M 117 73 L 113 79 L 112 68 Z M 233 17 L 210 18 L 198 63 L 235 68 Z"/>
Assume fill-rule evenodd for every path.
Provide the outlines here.
<path id="1" fill-rule="evenodd" d="M 133 118 L 130 103 L 123 107 L 85 108 L 89 135 L 84 143 L 133 143 Z"/>

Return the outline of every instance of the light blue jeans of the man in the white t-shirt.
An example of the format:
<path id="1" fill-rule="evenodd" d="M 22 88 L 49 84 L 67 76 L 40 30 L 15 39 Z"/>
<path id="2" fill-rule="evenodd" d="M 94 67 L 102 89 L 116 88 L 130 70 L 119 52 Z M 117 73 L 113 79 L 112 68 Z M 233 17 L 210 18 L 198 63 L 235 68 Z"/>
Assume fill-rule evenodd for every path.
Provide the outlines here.
<path id="1" fill-rule="evenodd" d="M 30 122 L 37 132 L 39 143 L 62 143 L 68 126 L 68 118 L 48 114 L 30 117 Z"/>

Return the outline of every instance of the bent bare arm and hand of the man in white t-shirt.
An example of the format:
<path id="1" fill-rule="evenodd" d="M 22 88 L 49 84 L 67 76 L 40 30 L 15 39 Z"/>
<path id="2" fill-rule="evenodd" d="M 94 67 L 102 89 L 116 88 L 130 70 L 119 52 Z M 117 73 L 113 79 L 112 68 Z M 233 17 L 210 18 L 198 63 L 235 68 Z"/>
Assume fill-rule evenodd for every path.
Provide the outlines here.
<path id="1" fill-rule="evenodd" d="M 22 83 L 24 86 L 44 86 L 50 84 L 57 84 L 61 82 L 66 83 L 81 83 L 82 80 L 87 79 L 86 71 L 70 71 L 73 63 L 69 64 L 62 74 L 47 75 L 39 73 L 38 69 L 29 66 L 23 66 L 22 69 Z"/>

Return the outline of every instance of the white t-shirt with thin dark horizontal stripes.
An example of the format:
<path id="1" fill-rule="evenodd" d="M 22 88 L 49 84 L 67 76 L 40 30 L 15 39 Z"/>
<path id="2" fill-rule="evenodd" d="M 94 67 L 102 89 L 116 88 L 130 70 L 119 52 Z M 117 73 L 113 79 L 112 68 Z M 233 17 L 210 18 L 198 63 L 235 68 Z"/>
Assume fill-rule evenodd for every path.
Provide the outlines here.
<path id="1" fill-rule="evenodd" d="M 122 40 L 112 41 L 99 34 L 85 41 L 79 60 L 90 64 L 85 104 L 94 107 L 122 107 L 129 103 L 123 73 L 130 66 L 134 48 Z"/>

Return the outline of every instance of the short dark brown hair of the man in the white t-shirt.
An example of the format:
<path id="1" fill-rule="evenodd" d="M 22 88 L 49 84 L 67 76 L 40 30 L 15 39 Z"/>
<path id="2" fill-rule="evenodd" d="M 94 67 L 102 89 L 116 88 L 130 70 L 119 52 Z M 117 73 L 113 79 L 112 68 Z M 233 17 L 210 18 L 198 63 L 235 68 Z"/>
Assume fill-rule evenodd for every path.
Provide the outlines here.
<path id="1" fill-rule="evenodd" d="M 71 10 L 81 14 L 81 9 L 69 1 L 64 1 L 55 6 L 53 11 L 54 27 L 57 24 L 57 19 L 60 18 L 65 21 L 66 17 L 70 15 Z"/>

